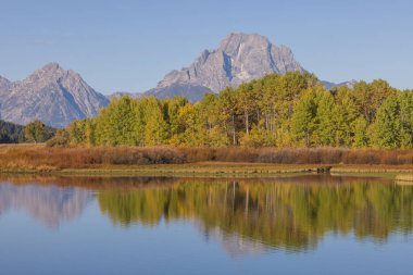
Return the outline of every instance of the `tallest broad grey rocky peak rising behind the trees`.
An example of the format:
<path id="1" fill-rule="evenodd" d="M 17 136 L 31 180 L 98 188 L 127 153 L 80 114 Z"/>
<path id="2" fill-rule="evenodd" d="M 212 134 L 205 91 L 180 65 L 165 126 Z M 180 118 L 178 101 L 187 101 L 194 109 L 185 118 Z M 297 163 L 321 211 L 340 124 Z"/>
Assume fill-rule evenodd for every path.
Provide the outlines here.
<path id="1" fill-rule="evenodd" d="M 291 50 L 256 34 L 230 34 L 216 50 L 204 50 L 188 67 L 168 73 L 154 89 L 159 98 L 186 96 L 197 101 L 206 91 L 218 92 L 267 74 L 303 72 Z"/>

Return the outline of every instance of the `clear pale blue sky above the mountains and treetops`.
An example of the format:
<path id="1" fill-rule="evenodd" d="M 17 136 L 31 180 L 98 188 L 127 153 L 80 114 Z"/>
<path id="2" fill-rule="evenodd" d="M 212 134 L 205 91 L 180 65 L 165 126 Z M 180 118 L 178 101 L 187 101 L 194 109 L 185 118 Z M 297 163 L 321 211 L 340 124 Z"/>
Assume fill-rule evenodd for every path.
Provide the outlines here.
<path id="1" fill-rule="evenodd" d="M 321 79 L 413 88 L 411 0 L 0 0 L 0 75 L 48 62 L 95 89 L 145 91 L 231 32 L 289 46 Z"/>

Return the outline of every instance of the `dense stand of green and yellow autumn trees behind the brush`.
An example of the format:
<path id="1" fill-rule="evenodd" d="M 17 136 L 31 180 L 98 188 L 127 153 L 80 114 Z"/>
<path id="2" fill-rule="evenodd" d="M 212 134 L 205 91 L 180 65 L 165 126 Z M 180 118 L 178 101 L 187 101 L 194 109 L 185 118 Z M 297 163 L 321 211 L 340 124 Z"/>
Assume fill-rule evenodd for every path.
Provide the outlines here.
<path id="1" fill-rule="evenodd" d="M 326 90 L 309 73 L 267 75 L 199 102 L 122 97 L 50 145 L 413 148 L 413 90 L 385 80 Z"/>

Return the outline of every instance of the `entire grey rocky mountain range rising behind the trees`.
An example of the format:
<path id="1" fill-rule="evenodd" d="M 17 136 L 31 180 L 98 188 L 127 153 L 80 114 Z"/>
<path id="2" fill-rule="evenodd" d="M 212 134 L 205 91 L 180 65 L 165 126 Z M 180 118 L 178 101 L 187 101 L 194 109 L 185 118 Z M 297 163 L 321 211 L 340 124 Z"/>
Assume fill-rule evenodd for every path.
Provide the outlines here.
<path id="1" fill-rule="evenodd" d="M 0 118 L 17 124 L 40 120 L 53 127 L 65 127 L 74 120 L 95 116 L 112 97 L 184 96 L 195 102 L 205 92 L 235 88 L 267 74 L 297 71 L 305 70 L 288 47 L 273 45 L 261 35 L 237 33 L 222 40 L 217 49 L 201 52 L 188 67 L 166 74 L 155 88 L 143 93 L 116 92 L 105 97 L 78 73 L 65 71 L 58 63 L 49 63 L 20 82 L 0 76 Z M 337 86 L 328 82 L 324 85 L 328 89 Z"/>

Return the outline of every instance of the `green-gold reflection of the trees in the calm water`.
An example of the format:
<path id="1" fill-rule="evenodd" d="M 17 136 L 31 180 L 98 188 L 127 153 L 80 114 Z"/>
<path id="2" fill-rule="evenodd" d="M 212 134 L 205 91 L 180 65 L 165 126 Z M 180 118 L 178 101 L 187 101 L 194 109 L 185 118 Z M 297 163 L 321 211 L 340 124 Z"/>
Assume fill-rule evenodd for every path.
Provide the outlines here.
<path id="1" fill-rule="evenodd" d="M 410 233 L 413 188 L 391 184 L 267 184 L 192 180 L 162 188 L 107 190 L 100 209 L 113 223 L 155 225 L 196 220 L 205 230 L 259 241 L 266 247 L 308 249 L 326 233 L 354 232 L 385 240 Z"/>

